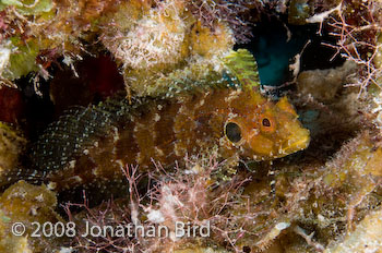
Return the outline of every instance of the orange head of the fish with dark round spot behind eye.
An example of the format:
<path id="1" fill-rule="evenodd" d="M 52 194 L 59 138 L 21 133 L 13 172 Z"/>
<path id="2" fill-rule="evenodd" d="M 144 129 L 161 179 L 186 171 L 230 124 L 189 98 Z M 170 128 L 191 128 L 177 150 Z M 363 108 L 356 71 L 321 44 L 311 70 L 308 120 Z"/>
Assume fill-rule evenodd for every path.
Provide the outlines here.
<path id="1" fill-rule="evenodd" d="M 263 101 L 251 108 L 234 108 L 236 113 L 224 124 L 227 148 L 237 149 L 243 158 L 268 160 L 305 149 L 309 130 L 286 97 L 278 103 Z"/>

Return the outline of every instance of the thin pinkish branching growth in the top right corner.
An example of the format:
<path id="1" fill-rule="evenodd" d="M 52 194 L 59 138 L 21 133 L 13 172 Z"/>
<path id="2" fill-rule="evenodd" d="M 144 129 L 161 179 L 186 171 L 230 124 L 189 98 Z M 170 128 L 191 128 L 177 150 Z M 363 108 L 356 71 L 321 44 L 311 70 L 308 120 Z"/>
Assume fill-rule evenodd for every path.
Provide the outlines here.
<path id="1" fill-rule="evenodd" d="M 381 26 L 381 2 L 335 1 L 325 5 L 325 11 L 307 19 L 308 23 L 329 25 L 331 34 L 337 38 L 336 45 L 329 45 L 342 57 L 358 65 L 357 79 L 349 83 L 367 92 L 369 85 L 379 86 L 379 35 Z M 363 19 L 365 16 L 365 19 Z"/>

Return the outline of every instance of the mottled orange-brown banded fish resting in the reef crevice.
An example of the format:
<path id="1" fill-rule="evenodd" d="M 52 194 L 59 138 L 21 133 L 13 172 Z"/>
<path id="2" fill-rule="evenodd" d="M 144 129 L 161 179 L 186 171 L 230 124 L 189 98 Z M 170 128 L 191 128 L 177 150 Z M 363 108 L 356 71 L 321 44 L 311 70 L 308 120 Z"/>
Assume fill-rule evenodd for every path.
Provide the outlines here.
<path id="1" fill-rule="evenodd" d="M 284 97 L 274 103 L 250 85 L 198 87 L 171 96 L 126 94 L 72 108 L 50 124 L 29 154 L 29 178 L 57 191 L 122 178 L 121 168 L 164 167 L 214 149 L 222 159 L 270 160 L 305 149 L 309 131 Z"/>

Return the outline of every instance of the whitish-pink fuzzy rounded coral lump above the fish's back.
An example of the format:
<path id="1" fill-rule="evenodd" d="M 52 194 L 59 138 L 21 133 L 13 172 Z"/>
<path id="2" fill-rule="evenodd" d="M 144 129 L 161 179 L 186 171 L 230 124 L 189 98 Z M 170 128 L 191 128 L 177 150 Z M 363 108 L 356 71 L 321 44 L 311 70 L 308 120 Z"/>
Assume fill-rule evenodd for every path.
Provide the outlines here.
<path id="1" fill-rule="evenodd" d="M 158 65 L 160 71 L 160 65 L 184 59 L 188 53 L 184 37 L 189 24 L 183 1 L 158 2 L 157 8 L 148 10 L 138 21 L 127 15 L 131 3 L 127 4 L 120 9 L 120 14 L 112 16 L 114 25 L 105 26 L 103 36 L 104 45 L 122 62 L 123 69 Z"/>

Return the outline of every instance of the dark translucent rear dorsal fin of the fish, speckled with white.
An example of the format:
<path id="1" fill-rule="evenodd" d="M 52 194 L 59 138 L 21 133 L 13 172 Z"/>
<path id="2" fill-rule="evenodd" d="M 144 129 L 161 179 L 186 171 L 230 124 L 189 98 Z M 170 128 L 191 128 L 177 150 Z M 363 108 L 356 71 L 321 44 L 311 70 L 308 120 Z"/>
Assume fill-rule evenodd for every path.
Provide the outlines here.
<path id="1" fill-rule="evenodd" d="M 59 170 L 70 157 L 91 147 L 94 138 L 106 135 L 116 122 L 127 118 L 131 106 L 122 96 L 93 107 L 74 107 L 48 126 L 33 146 L 31 160 L 46 171 Z"/>

